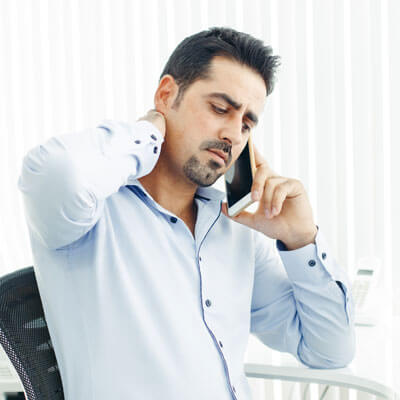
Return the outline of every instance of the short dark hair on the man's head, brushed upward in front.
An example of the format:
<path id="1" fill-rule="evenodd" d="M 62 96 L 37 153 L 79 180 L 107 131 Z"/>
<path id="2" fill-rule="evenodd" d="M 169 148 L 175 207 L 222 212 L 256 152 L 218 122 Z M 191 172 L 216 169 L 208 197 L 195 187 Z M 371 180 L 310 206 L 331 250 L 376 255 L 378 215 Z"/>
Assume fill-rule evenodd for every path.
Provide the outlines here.
<path id="1" fill-rule="evenodd" d="M 247 33 L 213 27 L 179 43 L 161 73 L 160 80 L 170 74 L 179 85 L 175 106 L 193 82 L 210 77 L 210 64 L 215 56 L 224 56 L 252 68 L 264 79 L 267 96 L 272 92 L 274 74 L 280 65 L 280 57 L 272 55 L 272 48 Z"/>

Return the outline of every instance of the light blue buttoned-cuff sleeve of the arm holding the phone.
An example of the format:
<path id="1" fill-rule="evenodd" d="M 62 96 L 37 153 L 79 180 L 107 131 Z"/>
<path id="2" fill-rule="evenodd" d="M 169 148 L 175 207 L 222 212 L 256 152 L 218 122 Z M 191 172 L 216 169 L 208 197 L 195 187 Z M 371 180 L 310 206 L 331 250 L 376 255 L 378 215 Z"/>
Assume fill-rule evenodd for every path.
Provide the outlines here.
<path id="1" fill-rule="evenodd" d="M 292 251 L 279 241 L 274 249 L 258 232 L 255 239 L 251 332 L 309 367 L 346 366 L 355 352 L 353 301 L 322 233 L 315 244 Z"/>

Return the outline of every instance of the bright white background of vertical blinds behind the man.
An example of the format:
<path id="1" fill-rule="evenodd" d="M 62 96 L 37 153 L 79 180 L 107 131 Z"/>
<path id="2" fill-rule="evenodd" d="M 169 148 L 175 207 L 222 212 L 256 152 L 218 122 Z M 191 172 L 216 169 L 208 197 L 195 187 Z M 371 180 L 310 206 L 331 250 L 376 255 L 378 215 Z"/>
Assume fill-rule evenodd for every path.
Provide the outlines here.
<path id="1" fill-rule="evenodd" d="M 27 151 L 103 119 L 135 121 L 153 108 L 177 44 L 230 26 L 282 57 L 256 146 L 276 172 L 303 182 L 352 279 L 373 271 L 364 311 L 391 332 L 400 316 L 399 21 L 399 0 L 0 0 L 0 274 L 32 265 L 17 190 Z M 249 359 L 279 362 L 260 346 L 250 338 Z M 387 339 L 387 374 L 398 347 Z M 301 391 L 250 381 L 255 400 Z M 318 391 L 311 385 L 310 396 Z M 357 396 L 333 388 L 325 398 Z"/>

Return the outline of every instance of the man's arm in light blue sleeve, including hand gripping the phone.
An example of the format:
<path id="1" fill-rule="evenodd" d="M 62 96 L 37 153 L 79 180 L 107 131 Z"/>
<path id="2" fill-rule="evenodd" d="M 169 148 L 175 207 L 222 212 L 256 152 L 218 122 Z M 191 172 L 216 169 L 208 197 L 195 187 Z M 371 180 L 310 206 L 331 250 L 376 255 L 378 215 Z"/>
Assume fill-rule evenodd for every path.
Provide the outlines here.
<path id="1" fill-rule="evenodd" d="M 255 147 L 254 154 L 257 211 L 229 217 L 227 204 L 222 207 L 228 218 L 255 231 L 251 332 L 310 367 L 343 367 L 355 351 L 346 274 L 326 250 L 303 184 L 278 175 Z M 277 239 L 279 253 L 268 238 Z"/>

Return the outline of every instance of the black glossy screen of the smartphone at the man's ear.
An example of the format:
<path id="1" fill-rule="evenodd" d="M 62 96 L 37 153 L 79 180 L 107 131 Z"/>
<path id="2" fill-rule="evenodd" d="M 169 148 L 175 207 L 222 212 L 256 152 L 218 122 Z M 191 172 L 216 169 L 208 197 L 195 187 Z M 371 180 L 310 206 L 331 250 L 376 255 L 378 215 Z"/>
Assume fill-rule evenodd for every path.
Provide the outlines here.
<path id="1" fill-rule="evenodd" d="M 250 193 L 252 184 L 249 143 L 247 142 L 239 158 L 225 172 L 228 207 L 232 207 Z"/>

